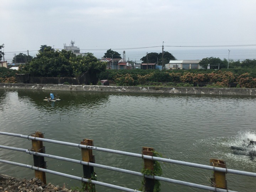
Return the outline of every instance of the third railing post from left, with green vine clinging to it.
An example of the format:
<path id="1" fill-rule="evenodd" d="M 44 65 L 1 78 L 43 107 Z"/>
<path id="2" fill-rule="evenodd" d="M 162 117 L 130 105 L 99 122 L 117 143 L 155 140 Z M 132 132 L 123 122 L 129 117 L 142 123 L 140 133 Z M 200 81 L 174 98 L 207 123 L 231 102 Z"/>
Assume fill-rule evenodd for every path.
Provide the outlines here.
<path id="1" fill-rule="evenodd" d="M 153 156 L 152 151 L 154 151 L 154 148 L 142 147 L 143 155 Z M 154 161 L 151 159 L 143 159 L 143 160 L 144 160 L 144 169 L 149 170 L 151 173 L 153 173 Z M 146 177 L 144 177 L 144 179 L 145 179 L 145 183 L 144 183 L 145 192 L 153 192 L 154 186 L 155 186 L 155 180 L 151 178 L 146 178 Z"/>

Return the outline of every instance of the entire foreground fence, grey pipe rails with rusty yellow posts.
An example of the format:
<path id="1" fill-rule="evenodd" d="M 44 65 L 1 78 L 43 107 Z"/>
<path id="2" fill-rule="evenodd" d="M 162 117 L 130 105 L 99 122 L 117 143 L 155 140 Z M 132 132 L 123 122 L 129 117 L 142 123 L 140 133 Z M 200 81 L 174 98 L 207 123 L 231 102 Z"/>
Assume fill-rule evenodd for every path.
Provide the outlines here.
<path id="1" fill-rule="evenodd" d="M 11 165 L 30 168 L 35 171 L 35 177 L 40 178 L 45 184 L 46 184 L 45 173 L 47 172 L 50 174 L 68 177 L 68 178 L 72 178 L 75 180 L 80 180 L 82 182 L 85 182 L 86 183 L 85 189 L 87 187 L 87 189 L 90 188 L 90 190 L 92 190 L 92 191 L 95 191 L 95 185 L 101 185 L 101 186 L 110 187 L 110 188 L 114 188 L 117 190 L 128 191 L 128 192 L 138 191 L 135 189 L 130 189 L 130 188 L 122 187 L 122 186 L 117 186 L 117 185 L 112 185 L 109 183 L 96 181 L 96 178 L 94 177 L 94 167 L 99 167 L 102 169 L 118 171 L 118 172 L 122 172 L 122 173 L 126 173 L 126 174 L 132 174 L 132 175 L 144 177 L 145 192 L 153 192 L 154 191 L 155 181 L 165 181 L 165 182 L 175 183 L 175 184 L 179 184 L 179 185 L 200 188 L 200 189 L 208 190 L 208 191 L 234 192 L 231 190 L 227 190 L 227 183 L 226 183 L 226 174 L 227 173 L 256 177 L 256 173 L 253 173 L 253 172 L 227 169 L 225 162 L 223 160 L 218 160 L 218 159 L 210 159 L 210 164 L 212 166 L 209 166 L 209 165 L 195 164 L 195 163 L 185 162 L 185 161 L 177 161 L 177 160 L 171 160 L 171 159 L 166 159 L 166 158 L 159 158 L 159 157 L 153 156 L 154 149 L 148 148 L 148 147 L 142 148 L 142 154 L 136 154 L 136 153 L 130 153 L 130 152 L 125 152 L 125 151 L 118 151 L 118 150 L 113 150 L 113 149 L 96 147 L 96 146 L 94 146 L 93 140 L 91 140 L 91 139 L 84 139 L 81 141 L 80 144 L 45 139 L 44 134 L 41 132 L 35 132 L 35 134 L 33 134 L 31 136 L 14 134 L 14 133 L 6 133 L 6 132 L 0 132 L 0 135 L 20 137 L 20 138 L 32 140 L 32 149 L 30 149 L 30 150 L 15 148 L 15 147 L 11 147 L 11 146 L 4 146 L 4 145 L 0 145 L 0 148 L 8 149 L 8 150 L 22 151 L 27 154 L 32 154 L 33 159 L 34 159 L 33 166 L 21 164 L 18 162 L 12 162 L 12 161 L 8 161 L 8 160 L 2 160 L 2 159 L 0 159 L 0 162 L 5 163 L 5 164 L 11 164 Z M 49 142 L 49 143 L 54 143 L 54 144 L 61 144 L 61 145 L 67 145 L 67 146 L 73 146 L 73 147 L 80 148 L 81 152 L 82 152 L 82 160 L 75 160 L 75 159 L 69 159 L 69 158 L 64 158 L 64 157 L 60 157 L 60 156 L 45 154 L 45 148 L 43 146 L 43 142 Z M 167 163 L 171 163 L 171 164 L 178 164 L 178 165 L 183 165 L 183 166 L 190 166 L 190 167 L 196 167 L 196 168 L 200 168 L 200 169 L 211 170 L 211 171 L 213 171 L 213 178 L 211 180 L 211 186 L 199 185 L 196 183 L 179 181 L 179 180 L 174 180 L 171 178 L 166 178 L 166 177 L 161 177 L 161 176 L 146 175 L 145 173 L 143 174 L 141 172 L 130 171 L 130 170 L 125 170 L 125 169 L 120 169 L 117 167 L 95 164 L 95 157 L 94 157 L 94 155 L 92 155 L 92 150 L 104 151 L 107 153 L 114 153 L 114 154 L 142 158 L 144 161 L 144 169 L 148 170 L 149 172 L 152 169 L 154 169 L 154 167 L 153 167 L 154 161 L 161 161 L 161 162 L 167 162 Z M 44 161 L 44 157 L 81 164 L 84 175 L 83 175 L 83 177 L 78 177 L 78 176 L 64 174 L 64 173 L 53 171 L 53 170 L 47 170 L 46 162 Z"/>

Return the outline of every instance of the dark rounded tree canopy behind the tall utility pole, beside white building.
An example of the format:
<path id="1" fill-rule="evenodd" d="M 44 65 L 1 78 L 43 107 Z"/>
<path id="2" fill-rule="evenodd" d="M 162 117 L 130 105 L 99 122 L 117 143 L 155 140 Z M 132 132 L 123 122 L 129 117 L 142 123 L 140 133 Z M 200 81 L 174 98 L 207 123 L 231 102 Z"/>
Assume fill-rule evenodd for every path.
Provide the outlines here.
<path id="1" fill-rule="evenodd" d="M 159 63 L 162 64 L 162 53 L 148 53 L 148 60 L 147 55 L 141 58 L 142 63 Z M 164 64 L 169 63 L 170 60 L 176 60 L 176 58 L 169 52 L 164 51 Z"/>

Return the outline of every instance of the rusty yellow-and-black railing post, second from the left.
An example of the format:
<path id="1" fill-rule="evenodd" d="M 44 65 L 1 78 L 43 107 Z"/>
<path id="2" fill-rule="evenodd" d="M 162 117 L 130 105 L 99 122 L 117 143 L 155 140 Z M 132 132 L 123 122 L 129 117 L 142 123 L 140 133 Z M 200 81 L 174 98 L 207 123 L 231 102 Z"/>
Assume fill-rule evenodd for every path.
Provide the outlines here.
<path id="1" fill-rule="evenodd" d="M 94 140 L 92 139 L 83 139 L 83 141 L 81 141 L 82 145 L 87 145 L 87 146 L 94 146 Z M 86 161 L 86 162 L 92 162 L 95 163 L 95 157 L 94 155 L 92 155 L 92 150 L 88 149 L 88 148 L 81 148 L 81 152 L 82 152 L 82 161 Z M 92 180 L 96 180 L 96 175 L 94 172 L 94 167 L 89 166 L 89 165 L 83 165 L 83 172 L 84 172 L 84 178 L 87 179 L 92 179 Z M 95 185 L 92 183 L 85 183 L 85 190 L 89 190 L 92 192 L 95 192 Z"/>

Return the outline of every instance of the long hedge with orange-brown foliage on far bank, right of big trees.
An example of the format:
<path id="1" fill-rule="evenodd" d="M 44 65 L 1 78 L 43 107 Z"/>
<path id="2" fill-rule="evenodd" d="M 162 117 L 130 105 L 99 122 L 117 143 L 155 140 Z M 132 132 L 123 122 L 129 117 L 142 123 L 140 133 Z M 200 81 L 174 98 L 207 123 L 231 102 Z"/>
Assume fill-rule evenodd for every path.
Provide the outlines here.
<path id="1" fill-rule="evenodd" d="M 248 70 L 247 70 L 248 71 Z M 256 71 L 250 70 L 107 70 L 99 79 L 108 79 L 119 86 L 146 85 L 148 82 L 182 82 L 185 84 L 209 83 L 228 87 L 238 83 L 240 87 L 256 88 Z"/>

